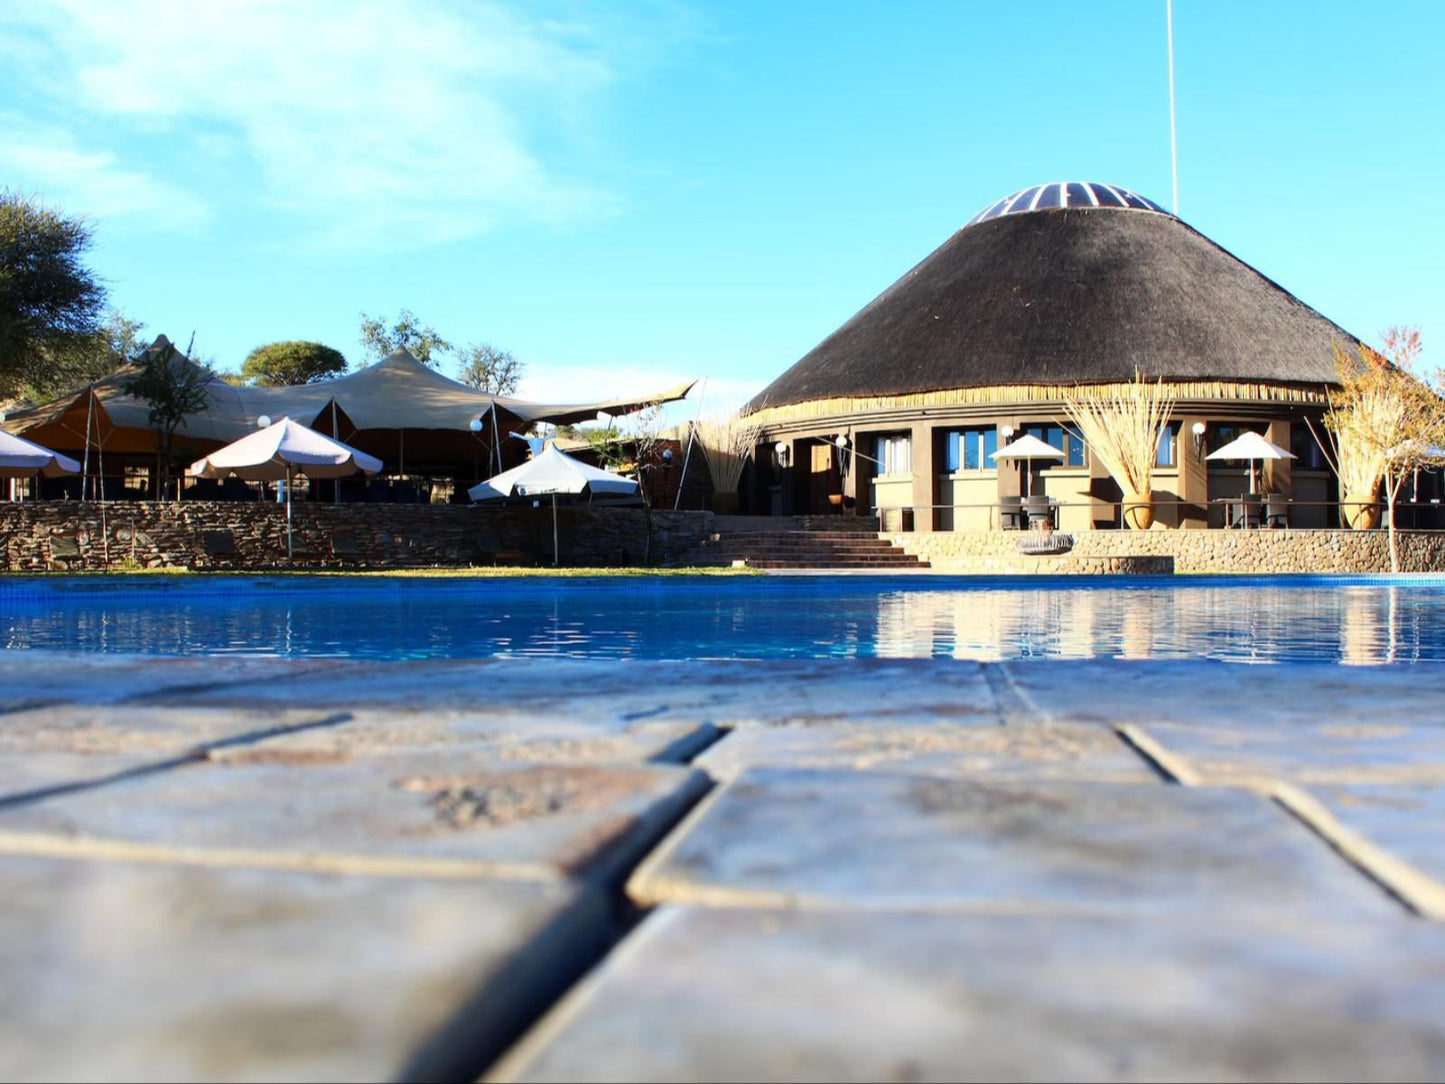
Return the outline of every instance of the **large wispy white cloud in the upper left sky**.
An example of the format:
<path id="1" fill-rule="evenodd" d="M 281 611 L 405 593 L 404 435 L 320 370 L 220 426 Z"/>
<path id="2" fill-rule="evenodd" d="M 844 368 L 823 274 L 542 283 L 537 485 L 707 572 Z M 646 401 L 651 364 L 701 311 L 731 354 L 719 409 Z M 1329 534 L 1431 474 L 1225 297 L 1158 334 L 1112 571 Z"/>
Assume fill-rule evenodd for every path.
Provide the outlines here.
<path id="1" fill-rule="evenodd" d="M 104 132 L 110 150 L 88 153 L 113 155 L 114 168 L 127 136 L 166 136 L 207 158 L 230 143 L 251 197 L 314 237 L 412 247 L 616 207 L 549 159 L 585 152 L 614 58 L 634 62 L 634 42 L 614 48 L 605 26 L 536 10 L 61 0 L 10 9 L 0 23 L 23 30 L 14 65 L 33 71 L 43 58 L 30 95 L 88 123 L 92 139 Z"/>

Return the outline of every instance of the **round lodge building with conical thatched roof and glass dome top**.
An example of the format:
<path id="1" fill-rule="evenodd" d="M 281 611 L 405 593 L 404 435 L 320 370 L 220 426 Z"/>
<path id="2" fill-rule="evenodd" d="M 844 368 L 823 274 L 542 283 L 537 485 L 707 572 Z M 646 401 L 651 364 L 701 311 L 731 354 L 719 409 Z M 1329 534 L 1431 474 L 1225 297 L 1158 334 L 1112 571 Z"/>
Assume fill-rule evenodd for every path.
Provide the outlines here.
<path id="1" fill-rule="evenodd" d="M 1121 491 L 1062 393 L 1139 373 L 1175 396 L 1157 523 L 1224 526 L 1248 464 L 1205 457 L 1250 429 L 1296 455 L 1261 474 L 1289 526 L 1337 526 L 1314 435 L 1332 344 L 1358 347 L 1159 204 L 1116 185 L 1035 185 L 974 215 L 743 408 L 760 432 L 744 507 L 968 530 L 997 526 L 1001 502 L 1029 487 L 1055 499 L 1061 529 L 1118 526 Z M 1023 434 L 1061 457 L 991 458 Z"/>

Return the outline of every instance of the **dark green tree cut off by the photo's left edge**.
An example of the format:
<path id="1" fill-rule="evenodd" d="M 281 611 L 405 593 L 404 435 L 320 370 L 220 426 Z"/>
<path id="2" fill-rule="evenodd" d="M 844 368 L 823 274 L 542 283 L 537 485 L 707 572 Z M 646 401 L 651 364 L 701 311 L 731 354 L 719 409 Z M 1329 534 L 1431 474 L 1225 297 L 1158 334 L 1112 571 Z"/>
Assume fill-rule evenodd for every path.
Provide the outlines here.
<path id="1" fill-rule="evenodd" d="M 0 189 L 0 396 L 48 386 L 92 347 L 105 289 L 82 263 L 91 228 Z"/>

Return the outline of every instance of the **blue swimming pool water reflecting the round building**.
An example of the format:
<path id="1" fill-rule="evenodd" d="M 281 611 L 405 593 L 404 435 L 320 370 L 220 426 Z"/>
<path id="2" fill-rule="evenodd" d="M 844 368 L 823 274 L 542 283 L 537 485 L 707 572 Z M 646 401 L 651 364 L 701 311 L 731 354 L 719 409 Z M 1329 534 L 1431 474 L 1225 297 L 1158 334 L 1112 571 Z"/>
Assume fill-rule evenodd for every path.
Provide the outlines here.
<path id="1" fill-rule="evenodd" d="M 6 649 L 1445 661 L 1442 577 L 0 578 Z"/>

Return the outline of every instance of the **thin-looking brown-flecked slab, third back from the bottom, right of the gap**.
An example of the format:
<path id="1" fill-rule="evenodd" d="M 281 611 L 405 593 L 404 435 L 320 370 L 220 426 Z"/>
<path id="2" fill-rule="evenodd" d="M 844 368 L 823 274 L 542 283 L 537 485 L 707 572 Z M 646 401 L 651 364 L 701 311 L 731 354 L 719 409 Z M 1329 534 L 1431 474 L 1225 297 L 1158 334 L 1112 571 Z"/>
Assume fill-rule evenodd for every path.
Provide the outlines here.
<path id="1" fill-rule="evenodd" d="M 942 776 L 1095 779 L 1147 783 L 1159 779 L 1143 757 L 1108 727 L 938 724 L 837 726 L 737 730 L 696 760 L 718 779 L 749 767 L 847 767 Z"/>

